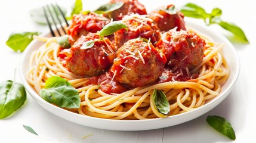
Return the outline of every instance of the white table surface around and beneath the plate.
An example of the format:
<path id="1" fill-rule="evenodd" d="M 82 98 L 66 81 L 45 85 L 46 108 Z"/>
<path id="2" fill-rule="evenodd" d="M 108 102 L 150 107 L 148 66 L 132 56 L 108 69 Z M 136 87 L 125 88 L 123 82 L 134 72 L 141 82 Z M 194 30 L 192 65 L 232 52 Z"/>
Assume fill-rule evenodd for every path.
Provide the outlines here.
<path id="1" fill-rule="evenodd" d="M 14 78 L 14 70 L 18 69 L 21 53 L 13 52 L 5 45 L 11 32 L 45 32 L 47 26 L 39 26 L 30 19 L 29 10 L 53 1 L 45 0 L 4 0 L 0 2 L 0 82 Z M 70 8 L 74 0 L 59 0 L 58 4 Z M 107 0 L 83 1 L 84 10 L 94 10 Z M 223 20 L 233 22 L 243 29 L 249 44 L 231 41 L 240 58 L 240 74 L 229 96 L 217 107 L 201 117 L 181 125 L 164 129 L 145 131 L 115 131 L 94 129 L 61 119 L 51 114 L 30 95 L 23 107 L 6 119 L 0 120 L 0 142 L 256 142 L 256 8 L 253 1 L 215 0 L 215 1 L 164 1 L 141 0 L 146 8 L 152 10 L 156 6 L 175 4 L 177 7 L 194 2 L 208 12 L 214 7 L 223 10 Z M 202 23 L 201 20 L 198 20 Z M 203 24 L 203 23 L 202 23 Z M 229 33 L 218 26 L 210 29 L 228 36 Z M 17 81 L 21 82 L 17 73 Z M 232 141 L 221 135 L 208 123 L 208 115 L 223 116 L 230 121 L 236 132 L 236 140 Z M 32 127 L 39 136 L 27 132 L 23 125 Z M 84 136 L 87 138 L 83 139 Z"/>

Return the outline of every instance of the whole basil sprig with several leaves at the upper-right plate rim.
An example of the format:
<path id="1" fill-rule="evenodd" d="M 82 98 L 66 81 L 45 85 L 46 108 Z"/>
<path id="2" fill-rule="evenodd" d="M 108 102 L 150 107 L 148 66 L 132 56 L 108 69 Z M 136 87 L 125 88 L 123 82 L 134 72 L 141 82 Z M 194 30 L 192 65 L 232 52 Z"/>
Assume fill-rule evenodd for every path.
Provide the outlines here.
<path id="1" fill-rule="evenodd" d="M 245 36 L 245 33 L 242 29 L 240 29 L 240 27 L 236 26 L 233 23 L 221 20 L 220 17 L 222 15 L 222 11 L 220 10 L 220 8 L 214 8 L 212 9 L 211 13 L 206 13 L 206 11 L 199 5 L 188 3 L 181 7 L 180 11 L 186 17 L 203 19 L 207 26 L 211 24 L 218 24 L 223 29 L 226 29 L 229 32 L 233 33 L 233 35 L 235 35 L 235 38 L 239 39 L 239 41 L 249 43 L 248 39 Z"/>

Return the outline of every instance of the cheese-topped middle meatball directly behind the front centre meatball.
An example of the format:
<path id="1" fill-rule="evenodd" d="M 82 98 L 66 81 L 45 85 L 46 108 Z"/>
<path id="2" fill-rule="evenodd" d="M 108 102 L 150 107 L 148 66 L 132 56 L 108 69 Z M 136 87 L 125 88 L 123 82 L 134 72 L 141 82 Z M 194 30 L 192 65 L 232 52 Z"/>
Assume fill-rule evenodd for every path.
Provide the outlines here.
<path id="1" fill-rule="evenodd" d="M 150 39 L 153 45 L 161 38 L 160 30 L 146 15 L 131 14 L 125 16 L 122 21 L 127 25 L 128 30 L 120 29 L 114 33 L 115 44 L 118 48 L 134 38 Z"/>

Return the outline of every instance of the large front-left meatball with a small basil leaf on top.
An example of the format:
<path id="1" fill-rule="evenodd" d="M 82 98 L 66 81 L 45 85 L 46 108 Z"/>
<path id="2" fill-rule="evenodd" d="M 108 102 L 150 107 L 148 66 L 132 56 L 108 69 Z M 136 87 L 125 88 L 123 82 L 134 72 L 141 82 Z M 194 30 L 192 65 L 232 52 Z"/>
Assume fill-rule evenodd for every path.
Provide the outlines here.
<path id="1" fill-rule="evenodd" d="M 94 45 L 84 48 L 88 41 L 94 41 Z M 78 76 L 98 76 L 113 63 L 115 52 L 112 48 L 108 38 L 103 41 L 96 33 L 82 35 L 65 53 L 67 70 Z"/>

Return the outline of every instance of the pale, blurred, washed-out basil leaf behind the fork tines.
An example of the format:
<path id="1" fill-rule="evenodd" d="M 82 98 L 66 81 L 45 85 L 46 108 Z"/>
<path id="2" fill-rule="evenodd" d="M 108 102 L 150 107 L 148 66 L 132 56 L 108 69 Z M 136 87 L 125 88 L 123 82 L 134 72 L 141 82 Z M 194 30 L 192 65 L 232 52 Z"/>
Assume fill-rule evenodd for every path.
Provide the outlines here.
<path id="1" fill-rule="evenodd" d="M 54 10 L 57 12 L 57 15 L 60 19 L 62 19 L 62 15 L 61 13 L 59 12 L 58 10 L 58 7 L 56 5 L 52 5 L 49 7 L 50 9 L 50 12 L 51 13 L 55 13 Z M 64 15 L 66 15 L 67 13 L 67 10 L 66 8 L 64 7 L 61 7 L 60 6 L 60 9 L 61 11 L 63 12 Z M 38 24 L 43 24 L 43 25 L 46 25 L 47 24 L 47 20 L 45 18 L 45 15 L 44 15 L 44 9 L 43 7 L 38 7 L 38 8 L 35 8 L 33 10 L 30 10 L 29 11 L 29 14 L 30 14 L 30 17 L 32 18 L 32 20 L 35 22 L 35 23 L 38 23 Z M 53 23 L 52 19 L 49 18 L 49 21 L 50 23 Z"/>

